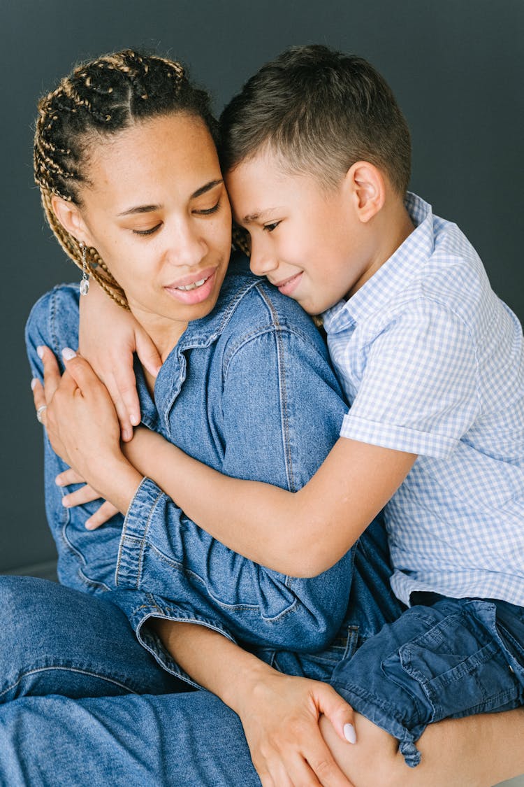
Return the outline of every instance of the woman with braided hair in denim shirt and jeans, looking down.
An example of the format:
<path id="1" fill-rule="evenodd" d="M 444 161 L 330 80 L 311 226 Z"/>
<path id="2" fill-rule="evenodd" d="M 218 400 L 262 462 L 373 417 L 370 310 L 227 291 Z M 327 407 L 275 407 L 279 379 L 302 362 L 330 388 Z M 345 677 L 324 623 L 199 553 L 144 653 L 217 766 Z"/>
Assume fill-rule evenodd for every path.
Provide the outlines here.
<path id="1" fill-rule="evenodd" d="M 165 90 L 161 76 L 172 80 L 175 87 L 171 91 Z M 264 290 L 263 285 L 242 270 L 225 279 L 229 251 L 227 198 L 211 135 L 203 123 L 206 113 L 202 103 L 200 110 L 196 102 L 189 103 L 183 79 L 176 64 L 123 53 L 84 66 L 75 72 L 74 78 L 64 80 L 49 97 L 46 109 L 42 107 L 37 131 L 37 176 L 46 212 L 68 253 L 81 262 L 86 272 L 94 273 L 104 289 L 121 300 L 126 298 L 134 316 L 159 349 L 164 364 L 156 381 L 154 401 L 151 377 L 147 371 L 142 375 L 138 370 L 141 405 L 148 425 L 177 442 L 185 440 L 186 450 L 192 449 L 210 464 L 224 467 L 230 462 L 236 475 L 247 461 L 253 460 L 259 478 L 267 474 L 268 480 L 275 483 L 274 478 L 280 473 L 279 477 L 284 477 L 286 485 L 291 486 L 288 476 L 292 467 L 294 482 L 299 484 L 314 470 L 308 466 L 311 452 L 316 453 L 313 464 L 318 464 L 322 450 L 324 453 L 328 450 L 328 445 L 322 449 L 321 444 L 328 444 L 336 431 L 332 427 L 317 428 L 314 445 L 306 440 L 297 447 L 302 435 L 308 434 L 308 424 L 302 408 L 299 415 L 299 408 L 292 406 L 292 397 L 297 397 L 297 401 L 306 398 L 306 410 L 309 407 L 313 413 L 317 411 L 319 398 L 323 412 L 326 400 L 332 402 L 334 424 L 343 412 L 343 405 L 338 401 L 335 382 L 309 323 L 295 310 L 289 324 L 286 322 L 287 315 L 282 309 L 288 309 L 290 302 L 284 307 L 284 301 L 273 300 L 269 288 Z M 172 102 L 149 109 L 152 103 L 148 104 L 148 98 L 153 91 L 158 95 L 173 94 Z M 101 110 L 97 103 L 102 99 L 106 104 Z M 105 111 L 108 103 L 112 109 Z M 132 122 L 129 115 L 123 120 L 124 104 L 132 109 Z M 89 131 L 82 126 L 84 110 L 96 121 Z M 65 116 L 70 131 L 68 138 L 64 133 Z M 54 138 L 42 133 L 53 131 L 54 124 L 60 129 Z M 73 141 L 79 142 L 76 149 Z M 59 161 L 53 157 L 57 151 Z M 96 257 L 94 248 L 98 252 Z M 225 285 L 219 295 L 223 280 Z M 38 358 L 43 361 L 46 404 L 38 382 L 34 386 L 35 402 L 59 453 L 97 491 L 127 512 L 126 530 L 120 539 L 122 519 L 118 519 L 104 529 L 103 543 L 89 541 L 90 535 L 83 528 L 86 515 L 70 517 L 53 494 L 52 476 L 64 465 L 48 447 L 48 515 L 59 549 L 60 577 L 69 587 L 16 578 L 4 582 L 2 592 L 5 602 L 9 602 L 5 608 L 11 610 L 12 619 L 5 621 L 4 627 L 2 666 L 5 665 L 9 685 L 5 685 L 3 694 L 11 701 L 0 711 L 4 731 L 0 752 L 2 776 L 9 784 L 36 783 L 38 779 L 42 781 L 42 774 L 44 783 L 88 780 L 95 784 L 107 781 L 235 784 L 250 783 L 250 780 L 256 783 L 234 715 L 207 693 L 162 696 L 163 692 L 179 689 L 180 685 L 136 644 L 126 628 L 120 611 L 123 608 L 140 631 L 143 644 L 157 660 L 176 672 L 176 664 L 170 660 L 174 656 L 196 682 L 208 685 L 238 711 L 264 783 L 347 783 L 335 767 L 317 726 L 319 713 L 324 711 L 343 737 L 344 722 L 350 717 L 342 700 L 320 683 L 276 673 L 251 653 L 242 652 L 228 638 L 231 637 L 229 628 L 238 626 L 237 636 L 244 634 L 261 656 L 272 659 L 273 654 L 267 653 L 268 641 L 273 648 L 281 647 L 278 637 L 288 634 L 277 632 L 277 641 L 272 640 L 266 630 L 271 628 L 268 616 L 260 614 L 261 611 L 272 612 L 276 604 L 278 614 L 273 615 L 273 620 L 283 613 L 289 617 L 291 607 L 301 606 L 295 601 L 314 598 L 318 604 L 314 614 L 321 617 L 320 612 L 326 611 L 322 606 L 326 603 L 325 589 L 315 595 L 317 583 L 313 582 L 311 589 L 307 583 L 302 587 L 291 582 L 293 602 L 288 598 L 288 606 L 282 607 L 284 591 L 290 589 L 290 582 L 281 582 L 274 572 L 264 573 L 259 567 L 247 568 L 247 561 L 242 562 L 240 557 L 239 571 L 234 553 L 229 553 L 234 564 L 228 566 L 221 552 L 223 548 L 204 541 L 200 551 L 207 556 L 205 565 L 192 571 L 194 560 L 199 557 L 194 549 L 184 564 L 186 574 L 191 576 L 175 582 L 177 593 L 182 589 L 192 593 L 191 608 L 188 611 L 183 602 L 176 604 L 172 599 L 166 604 L 163 584 L 154 586 L 158 578 L 156 571 L 165 560 L 170 561 L 173 573 L 179 570 L 184 562 L 181 559 L 186 556 L 185 549 L 194 546 L 198 531 L 179 512 L 178 530 L 172 531 L 176 543 L 159 545 L 154 533 L 150 538 L 145 525 L 153 523 L 154 530 L 158 507 L 163 508 L 161 517 L 164 518 L 173 515 L 174 505 L 152 482 L 147 479 L 142 482 L 141 475 L 121 453 L 118 422 L 103 386 L 97 385 L 89 368 L 71 352 L 64 353 L 69 373 L 59 382 L 51 353 L 37 350 L 46 344 L 56 351 L 63 349 L 66 342 L 75 346 L 77 309 L 77 298 L 71 288 L 55 290 L 35 307 L 27 337 L 31 364 L 38 376 L 42 373 Z M 264 323 L 261 323 L 262 309 Z M 280 339 L 283 335 L 288 337 L 285 342 L 294 344 L 299 352 L 296 360 L 292 356 L 291 372 L 275 382 L 272 375 L 278 368 L 277 358 L 281 363 L 283 349 L 284 360 L 289 354 L 280 341 L 275 342 L 276 336 Z M 267 336 L 271 337 L 273 355 L 268 353 Z M 263 341 L 259 341 L 261 337 Z M 240 349 L 248 352 L 244 355 Z M 302 366 L 313 379 L 307 397 L 301 396 L 306 371 Z M 213 373 L 220 380 L 220 386 L 215 388 Z M 234 384 L 227 391 L 229 375 Z M 284 460 L 276 472 L 279 455 L 273 453 L 269 464 L 263 440 L 269 424 L 276 419 L 277 434 L 283 442 L 282 379 L 295 386 L 299 381 L 295 394 L 292 388 L 286 389 L 285 414 L 295 420 L 304 417 L 305 421 L 301 422 L 303 428 L 299 426 L 292 431 L 292 440 L 284 441 Z M 276 399 L 273 389 L 278 393 Z M 241 419 L 252 430 L 251 397 L 257 412 L 261 403 L 267 412 L 263 415 L 260 434 L 248 439 Z M 176 418 L 172 417 L 175 399 Z M 63 412 L 58 419 L 60 409 Z M 203 423 L 203 414 L 207 423 Z M 73 423 L 73 429 L 69 422 Z M 197 432 L 195 422 L 199 427 Z M 95 445 L 86 439 L 84 445 L 79 445 L 75 438 L 75 430 L 76 434 L 88 435 L 90 429 L 104 440 L 102 453 L 100 442 Z M 239 440 L 239 432 L 244 434 L 244 439 Z M 229 451 L 232 441 L 233 449 Z M 271 440 L 269 445 L 274 452 L 278 442 Z M 136 504 L 134 516 L 130 516 L 130 509 Z M 368 534 L 368 549 L 375 549 L 376 536 L 376 531 Z M 366 539 L 362 551 L 351 556 L 355 569 L 349 609 L 357 614 L 359 604 L 360 607 L 367 604 L 366 614 L 357 623 L 346 619 L 343 645 L 330 648 L 324 656 L 328 659 L 336 655 L 337 647 L 342 650 L 339 655 L 350 648 L 348 633 L 354 631 L 354 626 L 367 624 L 370 629 L 376 629 L 381 620 L 392 614 L 391 608 L 382 609 L 387 604 L 383 562 L 378 560 L 375 568 L 368 566 L 365 543 Z M 171 559 L 172 553 L 176 553 L 176 560 Z M 210 565 L 209 575 L 202 576 Z M 218 573 L 213 573 L 215 565 L 220 567 Z M 224 567 L 229 570 L 229 576 L 241 577 L 233 588 L 225 581 Z M 347 573 L 350 561 L 342 568 Z M 144 569 L 145 585 L 142 584 Z M 256 614 L 251 619 L 247 611 L 238 623 L 228 608 L 236 606 L 236 614 L 241 615 L 245 612 L 244 604 L 236 604 L 236 598 L 231 604 L 229 596 L 214 598 L 210 591 L 219 588 L 221 593 L 236 592 L 240 586 L 243 593 L 247 589 L 256 595 L 254 573 L 263 591 L 257 597 Z M 193 574 L 197 575 L 195 582 L 192 582 Z M 343 577 L 343 571 L 335 573 L 335 585 L 343 582 Z M 202 582 L 206 592 L 202 592 Z M 273 593 L 275 586 L 277 591 Z M 77 589 L 88 590 L 92 596 Z M 374 597 L 380 604 L 376 604 Z M 312 607 L 306 603 L 302 608 L 306 616 L 299 622 L 299 631 L 306 634 L 307 615 Z M 155 628 L 144 626 L 149 617 L 165 622 L 156 623 Z M 325 618 L 328 621 L 329 615 Z M 188 620 L 192 623 L 187 623 Z M 225 637 L 217 630 L 221 620 Z M 43 645 L 42 654 L 27 641 L 27 632 L 35 639 L 38 637 L 36 641 Z M 361 635 L 366 633 L 361 630 Z M 284 652 L 278 658 L 283 660 L 282 667 L 291 669 L 293 662 L 288 659 L 293 659 L 295 671 L 304 671 L 300 654 Z M 97 664 L 96 669 L 93 663 Z M 310 663 L 307 659 L 304 663 L 308 671 Z M 8 664 L 16 671 L 16 679 L 9 674 Z M 129 696 L 131 692 L 160 696 Z M 20 694 L 31 693 L 66 696 L 19 698 Z M 108 694 L 124 696 L 108 699 Z M 83 696 L 101 699 L 82 700 Z M 79 699 L 72 703 L 71 697 Z M 254 713 L 254 707 L 260 716 Z M 273 732 L 268 735 L 266 727 L 268 724 L 271 727 L 270 717 L 278 715 L 282 708 L 288 714 L 284 727 L 290 719 L 293 722 L 293 740 L 286 751 L 286 746 L 281 746 L 284 736 L 279 733 L 274 738 L 278 744 L 273 747 L 275 751 L 269 751 L 272 747 L 268 748 L 267 741 L 271 741 Z M 97 724 L 93 726 L 95 719 Z M 296 719 L 302 719 L 300 736 L 296 734 Z M 20 746 L 21 737 L 35 730 L 38 730 L 36 751 L 27 752 Z M 77 735 L 82 741 L 75 740 Z M 71 741 L 75 741 L 76 762 L 71 759 L 65 762 L 67 758 L 58 752 L 67 750 Z M 47 756 L 53 752 L 47 764 L 39 760 L 39 752 L 44 751 Z M 377 783 L 375 763 L 368 783 Z"/>

